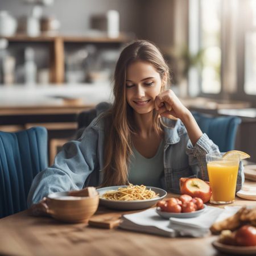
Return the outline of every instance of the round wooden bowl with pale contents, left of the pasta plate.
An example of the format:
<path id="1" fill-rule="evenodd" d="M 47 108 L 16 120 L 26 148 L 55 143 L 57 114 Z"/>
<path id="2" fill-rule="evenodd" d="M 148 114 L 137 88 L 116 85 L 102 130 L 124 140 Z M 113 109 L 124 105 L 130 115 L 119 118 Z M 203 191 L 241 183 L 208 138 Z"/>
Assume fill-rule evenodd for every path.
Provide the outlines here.
<path id="1" fill-rule="evenodd" d="M 87 222 L 98 208 L 99 195 L 89 197 L 68 196 L 69 192 L 48 195 L 48 213 L 56 220 L 64 222 Z"/>

